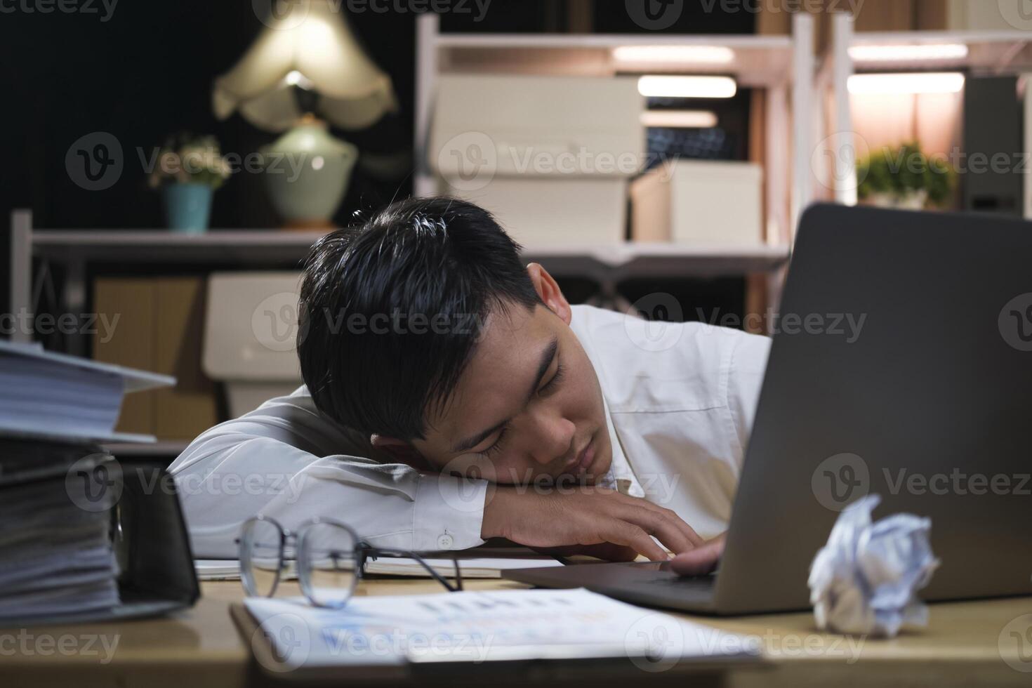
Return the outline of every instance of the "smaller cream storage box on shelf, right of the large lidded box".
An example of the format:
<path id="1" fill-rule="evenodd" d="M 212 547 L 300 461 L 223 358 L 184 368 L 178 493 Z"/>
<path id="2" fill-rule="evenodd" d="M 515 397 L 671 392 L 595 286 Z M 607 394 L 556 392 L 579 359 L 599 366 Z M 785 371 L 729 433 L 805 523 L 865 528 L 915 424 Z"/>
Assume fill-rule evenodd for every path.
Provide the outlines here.
<path id="1" fill-rule="evenodd" d="M 763 171 L 747 162 L 676 160 L 631 184 L 636 241 L 763 243 Z"/>

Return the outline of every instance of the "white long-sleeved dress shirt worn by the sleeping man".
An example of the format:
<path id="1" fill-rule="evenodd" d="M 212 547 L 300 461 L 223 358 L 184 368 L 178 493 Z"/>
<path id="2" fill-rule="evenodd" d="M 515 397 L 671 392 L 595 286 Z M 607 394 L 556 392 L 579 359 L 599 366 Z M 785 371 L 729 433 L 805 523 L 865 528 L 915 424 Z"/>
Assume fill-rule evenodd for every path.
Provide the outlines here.
<path id="1" fill-rule="evenodd" d="M 769 340 L 701 323 L 649 323 L 587 305 L 571 328 L 602 386 L 613 462 L 602 483 L 723 532 L 752 426 Z M 305 387 L 206 430 L 170 467 L 194 556 L 236 556 L 240 523 L 288 528 L 314 516 L 374 545 L 465 549 L 487 483 L 423 473 L 320 414 Z"/>

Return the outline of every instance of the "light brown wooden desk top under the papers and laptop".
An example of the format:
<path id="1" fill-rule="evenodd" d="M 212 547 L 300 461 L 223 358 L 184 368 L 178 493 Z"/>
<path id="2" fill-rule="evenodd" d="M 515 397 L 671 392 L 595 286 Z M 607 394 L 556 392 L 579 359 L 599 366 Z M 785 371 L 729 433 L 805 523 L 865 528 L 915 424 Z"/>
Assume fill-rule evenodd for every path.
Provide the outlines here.
<path id="1" fill-rule="evenodd" d="M 364 582 L 359 594 L 430 592 L 438 590 L 436 585 L 427 580 L 381 579 Z M 466 587 L 522 586 L 469 581 Z M 202 588 L 204 596 L 194 609 L 169 618 L 0 629 L 0 686 L 234 688 L 266 683 L 229 616 L 230 602 L 243 598 L 239 584 L 205 583 Z M 297 589 L 287 585 L 282 592 L 297 594 Z M 1032 685 L 1030 597 L 935 604 L 927 629 L 891 641 L 820 633 L 810 614 L 699 620 L 749 635 L 770 662 L 727 671 L 707 669 L 690 681 L 692 687 Z M 634 671 L 650 685 L 688 683 L 680 669 Z M 626 685 L 627 676 L 621 676 L 620 683 Z M 356 685 L 344 678 L 340 683 Z M 533 677 L 510 678 L 540 685 Z M 537 678 L 557 683 L 553 676 Z M 592 676 L 590 683 L 602 685 L 605 679 Z"/>

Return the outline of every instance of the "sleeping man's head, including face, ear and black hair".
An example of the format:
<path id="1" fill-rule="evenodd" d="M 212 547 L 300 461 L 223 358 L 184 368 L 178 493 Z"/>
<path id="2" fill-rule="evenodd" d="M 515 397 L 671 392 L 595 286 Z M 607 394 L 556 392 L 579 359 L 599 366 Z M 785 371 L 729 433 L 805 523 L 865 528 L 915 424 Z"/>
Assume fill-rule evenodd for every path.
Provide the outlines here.
<path id="1" fill-rule="evenodd" d="M 298 356 L 316 406 L 397 460 L 497 483 L 605 473 L 602 390 L 570 304 L 489 212 L 393 203 L 313 248 Z"/>

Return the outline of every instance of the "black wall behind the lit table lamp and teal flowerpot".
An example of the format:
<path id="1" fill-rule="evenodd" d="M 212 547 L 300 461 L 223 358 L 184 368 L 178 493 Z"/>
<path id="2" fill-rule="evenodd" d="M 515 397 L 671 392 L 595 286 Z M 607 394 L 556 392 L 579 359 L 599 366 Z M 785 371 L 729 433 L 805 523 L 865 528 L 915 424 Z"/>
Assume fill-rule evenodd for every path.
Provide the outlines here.
<path id="1" fill-rule="evenodd" d="M 84 0 L 85 1 L 85 0 Z M 101 0 L 93 5 L 104 13 Z M 260 2 L 254 4 L 261 5 Z M 275 139 L 234 114 L 217 122 L 212 81 L 229 69 L 263 25 L 251 2 L 121 0 L 98 14 L 0 14 L 4 179 L 0 222 L 31 207 L 39 227 L 156 227 L 157 194 L 146 186 L 137 149 L 149 156 L 187 129 L 218 136 L 223 152 L 246 155 Z M 336 132 L 363 151 L 412 148 L 415 19 L 363 12 L 350 18 L 369 56 L 394 79 L 400 110 L 369 130 Z M 80 136 L 108 132 L 122 146 L 119 181 L 103 191 L 76 186 L 65 167 Z M 404 176 L 382 182 L 356 170 L 342 212 L 409 193 Z M 259 175 L 233 175 L 216 193 L 214 227 L 276 226 Z"/>

